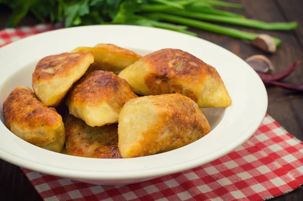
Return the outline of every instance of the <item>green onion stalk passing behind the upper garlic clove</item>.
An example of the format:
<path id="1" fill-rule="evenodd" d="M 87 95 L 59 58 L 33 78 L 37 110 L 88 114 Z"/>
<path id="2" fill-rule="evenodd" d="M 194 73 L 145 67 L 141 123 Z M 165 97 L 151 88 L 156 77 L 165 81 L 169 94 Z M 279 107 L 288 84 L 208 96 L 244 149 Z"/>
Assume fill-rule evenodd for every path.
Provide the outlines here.
<path id="1" fill-rule="evenodd" d="M 144 16 L 147 16 L 147 17 L 155 19 L 155 20 L 164 20 L 164 21 L 169 21 L 169 22 L 174 22 L 174 23 L 180 23 L 180 24 L 196 27 L 199 29 L 204 29 L 207 31 L 212 31 L 215 33 L 220 33 L 223 35 L 228 35 L 228 36 L 232 36 L 235 38 L 240 38 L 240 39 L 245 39 L 245 40 L 250 40 L 250 41 L 254 40 L 259 35 L 257 33 L 245 32 L 245 31 L 241 31 L 238 29 L 223 27 L 223 26 L 219 26 L 219 25 L 210 24 L 207 22 L 192 20 L 192 19 L 178 17 L 178 16 L 164 14 L 164 13 L 150 13 L 150 14 L 145 14 Z M 279 46 L 281 44 L 281 40 L 279 38 L 274 37 L 274 40 L 275 40 L 275 43 L 277 46 Z"/>

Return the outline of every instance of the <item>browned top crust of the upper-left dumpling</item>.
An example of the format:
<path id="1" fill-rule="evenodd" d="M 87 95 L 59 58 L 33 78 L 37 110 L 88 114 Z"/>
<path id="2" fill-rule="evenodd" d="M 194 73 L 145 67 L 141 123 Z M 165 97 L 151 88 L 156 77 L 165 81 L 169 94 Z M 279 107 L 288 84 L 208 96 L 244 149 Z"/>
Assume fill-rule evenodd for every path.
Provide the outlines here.
<path id="1" fill-rule="evenodd" d="M 69 76 L 75 70 L 75 66 L 85 59 L 89 59 L 90 63 L 93 63 L 93 55 L 90 51 L 47 56 L 38 62 L 32 75 L 32 82 L 51 80 L 54 76 Z"/>

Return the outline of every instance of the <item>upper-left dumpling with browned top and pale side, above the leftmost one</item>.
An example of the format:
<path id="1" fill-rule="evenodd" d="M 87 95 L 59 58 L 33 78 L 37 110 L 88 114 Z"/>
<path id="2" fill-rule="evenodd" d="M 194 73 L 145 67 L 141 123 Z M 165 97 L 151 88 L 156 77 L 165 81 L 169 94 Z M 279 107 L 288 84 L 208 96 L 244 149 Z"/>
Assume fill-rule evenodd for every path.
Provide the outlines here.
<path id="1" fill-rule="evenodd" d="M 91 52 L 63 53 L 41 59 L 32 75 L 35 94 L 46 106 L 58 106 L 92 63 Z"/>

